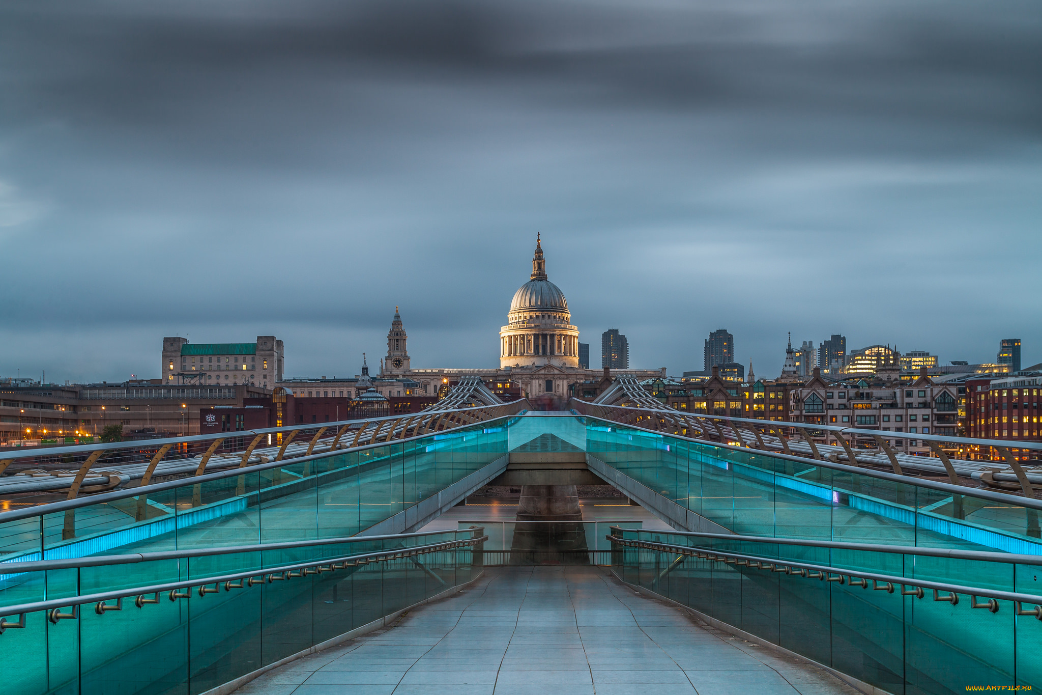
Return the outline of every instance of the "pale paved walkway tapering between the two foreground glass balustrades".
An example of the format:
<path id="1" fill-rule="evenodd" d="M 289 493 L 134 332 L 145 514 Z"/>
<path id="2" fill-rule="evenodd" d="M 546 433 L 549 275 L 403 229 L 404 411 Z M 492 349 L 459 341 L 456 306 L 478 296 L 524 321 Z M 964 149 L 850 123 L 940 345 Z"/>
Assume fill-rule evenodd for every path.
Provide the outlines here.
<path id="1" fill-rule="evenodd" d="M 855 695 L 829 673 L 701 627 L 599 568 L 489 568 L 397 625 L 239 695 Z"/>

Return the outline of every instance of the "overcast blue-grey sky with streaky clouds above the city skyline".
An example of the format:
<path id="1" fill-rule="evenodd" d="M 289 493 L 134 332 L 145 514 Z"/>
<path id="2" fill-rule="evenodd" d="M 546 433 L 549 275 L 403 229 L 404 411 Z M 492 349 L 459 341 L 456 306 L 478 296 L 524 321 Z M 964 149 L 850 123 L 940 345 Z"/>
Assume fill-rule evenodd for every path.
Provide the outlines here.
<path id="1" fill-rule="evenodd" d="M 0 376 L 493 366 L 537 232 L 595 367 L 1026 366 L 1040 221 L 1035 0 L 0 1 Z"/>

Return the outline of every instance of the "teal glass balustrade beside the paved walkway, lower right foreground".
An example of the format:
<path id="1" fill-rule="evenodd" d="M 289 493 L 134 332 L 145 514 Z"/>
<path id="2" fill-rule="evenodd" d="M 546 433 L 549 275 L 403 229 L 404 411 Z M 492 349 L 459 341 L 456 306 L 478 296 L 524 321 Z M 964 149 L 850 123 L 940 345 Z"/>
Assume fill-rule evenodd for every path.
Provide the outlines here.
<path id="1" fill-rule="evenodd" d="M 622 539 L 691 546 L 822 567 L 862 570 L 978 589 L 1042 594 L 1038 563 L 934 557 L 857 548 L 779 545 L 618 529 Z M 638 585 L 756 638 L 890 693 L 964 693 L 969 686 L 1042 687 L 1042 621 L 1017 616 L 1013 601 L 920 598 L 914 585 L 852 586 L 770 568 L 626 547 L 614 571 Z M 907 591 L 908 595 L 902 595 Z M 947 592 L 940 592 L 944 598 Z M 1040 597 L 1042 600 L 1042 597 Z M 1035 606 L 1023 606 L 1034 609 Z M 997 690 L 997 689 L 996 689 Z"/>

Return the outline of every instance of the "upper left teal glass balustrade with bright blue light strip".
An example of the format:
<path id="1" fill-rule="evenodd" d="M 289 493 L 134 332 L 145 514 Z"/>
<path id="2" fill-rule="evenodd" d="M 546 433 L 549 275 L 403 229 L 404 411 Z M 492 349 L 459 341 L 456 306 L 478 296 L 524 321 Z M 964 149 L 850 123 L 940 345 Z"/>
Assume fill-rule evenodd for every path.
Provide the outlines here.
<path id="1" fill-rule="evenodd" d="M 351 536 L 506 454 L 496 422 L 10 521 L 19 513 L 0 513 L 0 577 L 5 562 Z"/>

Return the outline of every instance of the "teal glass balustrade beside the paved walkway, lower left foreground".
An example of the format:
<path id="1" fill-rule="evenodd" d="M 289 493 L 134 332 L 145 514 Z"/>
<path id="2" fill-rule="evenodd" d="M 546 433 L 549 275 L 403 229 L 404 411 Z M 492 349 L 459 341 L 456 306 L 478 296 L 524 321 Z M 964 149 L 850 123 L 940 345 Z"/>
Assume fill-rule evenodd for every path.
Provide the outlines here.
<path id="1" fill-rule="evenodd" d="M 473 539 L 474 530 L 8 575 L 0 605 L 256 571 L 232 581 L 25 614 L 0 634 L 4 692 L 13 695 L 195 695 L 470 581 L 468 546 L 322 573 L 264 570 Z M 119 610 L 115 610 L 116 607 Z M 5 616 L 8 622 L 18 616 Z"/>

